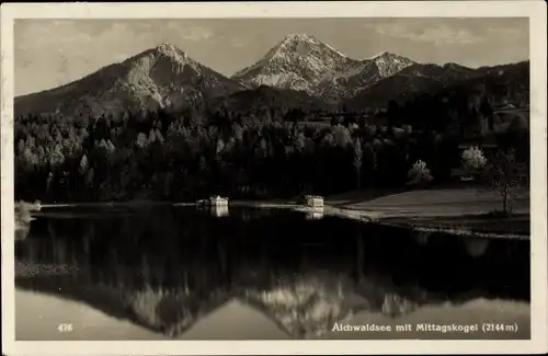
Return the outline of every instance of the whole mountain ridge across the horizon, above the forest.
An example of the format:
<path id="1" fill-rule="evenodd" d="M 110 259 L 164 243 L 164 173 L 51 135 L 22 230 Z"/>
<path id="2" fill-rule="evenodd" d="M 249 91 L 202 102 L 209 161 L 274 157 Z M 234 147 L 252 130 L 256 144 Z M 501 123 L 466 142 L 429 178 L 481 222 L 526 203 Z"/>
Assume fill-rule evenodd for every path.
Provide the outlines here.
<path id="1" fill-rule="evenodd" d="M 176 46 L 162 43 L 67 84 L 16 96 L 14 106 L 16 115 L 99 116 L 204 107 L 224 97 L 239 108 L 287 103 L 289 108 L 343 104 L 359 110 L 365 104 L 384 106 L 391 99 L 438 91 L 472 78 L 512 74 L 512 68 L 522 62 L 475 69 L 456 62 L 418 64 L 388 51 L 353 59 L 313 36 L 293 34 L 258 62 L 226 77 Z"/>

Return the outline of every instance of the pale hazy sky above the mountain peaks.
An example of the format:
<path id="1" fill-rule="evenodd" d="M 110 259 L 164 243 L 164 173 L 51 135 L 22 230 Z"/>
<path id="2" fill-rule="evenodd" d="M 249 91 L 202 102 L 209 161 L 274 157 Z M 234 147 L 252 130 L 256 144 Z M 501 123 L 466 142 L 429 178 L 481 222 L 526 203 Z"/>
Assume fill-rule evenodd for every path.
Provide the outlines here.
<path id="1" fill-rule="evenodd" d="M 66 84 L 160 43 L 231 76 L 294 33 L 356 59 L 385 50 L 468 67 L 529 58 L 527 18 L 16 20 L 15 95 Z"/>

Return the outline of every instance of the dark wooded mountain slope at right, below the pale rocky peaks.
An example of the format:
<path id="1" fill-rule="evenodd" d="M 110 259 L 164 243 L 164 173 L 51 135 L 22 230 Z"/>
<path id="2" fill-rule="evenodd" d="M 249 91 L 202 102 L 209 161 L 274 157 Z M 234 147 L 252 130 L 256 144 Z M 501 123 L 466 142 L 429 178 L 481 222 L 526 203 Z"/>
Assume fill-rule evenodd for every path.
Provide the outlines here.
<path id="1" fill-rule="evenodd" d="M 522 129 L 529 120 L 529 61 L 478 69 L 421 66 L 379 81 L 344 105 L 387 108 L 378 117 L 413 127 L 477 133 L 489 127 L 481 125 L 500 131 L 515 123 Z"/>

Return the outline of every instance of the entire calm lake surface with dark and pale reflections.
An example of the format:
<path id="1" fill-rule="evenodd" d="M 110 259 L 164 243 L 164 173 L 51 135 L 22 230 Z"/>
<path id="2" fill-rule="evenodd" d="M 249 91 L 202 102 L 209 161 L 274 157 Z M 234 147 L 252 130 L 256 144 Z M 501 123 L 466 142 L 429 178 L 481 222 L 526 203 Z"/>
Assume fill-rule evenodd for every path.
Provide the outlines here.
<path id="1" fill-rule="evenodd" d="M 527 240 L 284 209 L 52 208 L 15 253 L 18 340 L 530 337 Z"/>

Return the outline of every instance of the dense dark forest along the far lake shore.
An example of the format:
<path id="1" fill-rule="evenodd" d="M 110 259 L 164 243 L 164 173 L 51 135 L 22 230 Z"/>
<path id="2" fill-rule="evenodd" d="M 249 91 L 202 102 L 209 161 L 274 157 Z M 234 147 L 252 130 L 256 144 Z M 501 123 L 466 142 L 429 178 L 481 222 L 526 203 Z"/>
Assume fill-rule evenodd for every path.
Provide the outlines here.
<path id="1" fill-rule="evenodd" d="M 226 106 L 215 112 L 21 116 L 14 125 L 15 195 L 25 200 L 105 202 L 333 194 L 402 186 L 418 160 L 443 182 L 459 165 L 464 139 L 464 130 L 452 124 L 465 127 L 467 119 L 492 117 L 483 102 L 479 110 L 466 106 L 461 113 L 432 105 L 410 112 L 390 103 L 388 124 L 383 125 L 355 115 L 331 126 L 302 125 L 305 117 L 313 120 L 321 114 L 269 107 L 243 113 Z M 434 113 L 439 123 L 429 125 Z M 499 138 L 510 146 L 522 142 L 522 151 L 528 152 L 528 135 L 517 126 L 521 136 Z"/>

